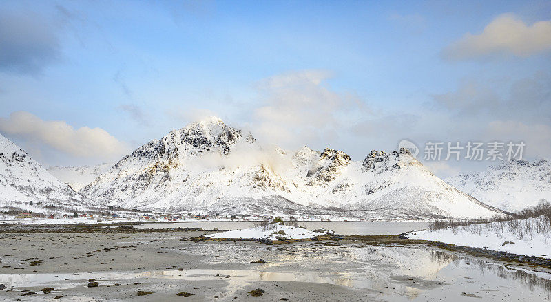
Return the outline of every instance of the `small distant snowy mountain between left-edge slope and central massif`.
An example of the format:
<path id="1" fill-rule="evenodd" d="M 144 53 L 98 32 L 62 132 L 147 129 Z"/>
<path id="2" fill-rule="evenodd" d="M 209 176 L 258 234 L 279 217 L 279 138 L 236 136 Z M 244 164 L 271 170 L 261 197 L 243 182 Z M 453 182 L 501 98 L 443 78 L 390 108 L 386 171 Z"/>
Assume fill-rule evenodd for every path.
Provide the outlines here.
<path id="1" fill-rule="evenodd" d="M 58 180 L 68 184 L 74 191 L 90 184 L 99 175 L 107 172 L 112 164 L 98 164 L 96 166 L 50 166 L 46 169 Z"/>

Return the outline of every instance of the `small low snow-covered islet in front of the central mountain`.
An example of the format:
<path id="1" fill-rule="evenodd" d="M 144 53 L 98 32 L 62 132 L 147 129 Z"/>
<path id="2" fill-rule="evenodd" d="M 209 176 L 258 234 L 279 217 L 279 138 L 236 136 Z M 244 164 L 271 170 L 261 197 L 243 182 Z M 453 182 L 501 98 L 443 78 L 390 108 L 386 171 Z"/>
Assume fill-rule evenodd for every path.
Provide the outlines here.
<path id="1" fill-rule="evenodd" d="M 256 226 L 254 228 L 245 228 L 242 230 L 229 230 L 227 232 L 205 235 L 205 237 L 213 239 L 270 239 L 271 241 L 280 241 L 280 239 L 309 239 L 324 235 L 327 234 L 313 232 L 295 226 L 269 224 L 267 226 Z"/>

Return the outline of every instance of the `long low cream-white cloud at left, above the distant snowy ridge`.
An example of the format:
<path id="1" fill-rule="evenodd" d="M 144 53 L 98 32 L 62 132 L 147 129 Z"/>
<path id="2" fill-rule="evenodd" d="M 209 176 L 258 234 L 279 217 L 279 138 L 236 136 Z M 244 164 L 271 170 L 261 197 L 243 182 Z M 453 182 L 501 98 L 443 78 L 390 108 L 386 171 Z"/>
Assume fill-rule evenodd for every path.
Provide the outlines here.
<path id="1" fill-rule="evenodd" d="M 0 118 L 0 131 L 7 136 L 28 140 L 34 147 L 51 147 L 79 158 L 114 160 L 129 151 L 127 144 L 101 128 L 74 129 L 66 122 L 45 121 L 26 111 L 16 111 L 8 118 Z"/>

